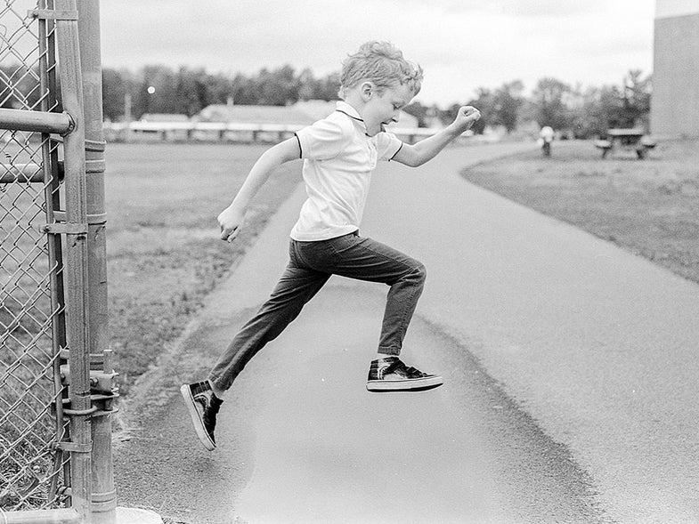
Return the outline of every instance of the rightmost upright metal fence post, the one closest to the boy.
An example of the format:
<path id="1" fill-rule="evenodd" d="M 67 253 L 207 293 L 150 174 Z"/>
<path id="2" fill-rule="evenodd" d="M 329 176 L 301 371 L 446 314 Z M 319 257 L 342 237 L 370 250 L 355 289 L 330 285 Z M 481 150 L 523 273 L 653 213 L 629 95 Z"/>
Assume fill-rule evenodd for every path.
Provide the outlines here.
<path id="1" fill-rule="evenodd" d="M 102 371 L 111 374 L 109 311 L 107 301 L 107 246 L 104 190 L 104 136 L 102 133 L 102 58 L 100 2 L 81 0 L 77 22 L 85 110 L 86 212 L 88 224 L 88 299 L 90 353 L 102 356 Z M 117 520 L 117 492 L 111 448 L 112 398 L 93 397 L 99 407 L 93 415 L 93 524 Z"/>

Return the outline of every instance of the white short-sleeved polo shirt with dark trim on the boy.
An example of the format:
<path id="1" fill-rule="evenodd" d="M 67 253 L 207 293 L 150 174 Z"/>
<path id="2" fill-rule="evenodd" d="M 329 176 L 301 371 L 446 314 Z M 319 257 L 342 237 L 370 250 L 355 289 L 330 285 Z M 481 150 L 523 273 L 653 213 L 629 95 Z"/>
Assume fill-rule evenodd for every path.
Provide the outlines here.
<path id="1" fill-rule="evenodd" d="M 402 148 L 393 133 L 368 136 L 362 117 L 344 101 L 331 115 L 296 133 L 308 198 L 291 238 L 316 241 L 359 230 L 378 160 Z"/>

